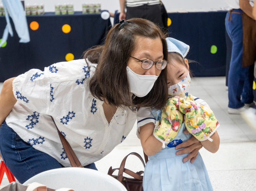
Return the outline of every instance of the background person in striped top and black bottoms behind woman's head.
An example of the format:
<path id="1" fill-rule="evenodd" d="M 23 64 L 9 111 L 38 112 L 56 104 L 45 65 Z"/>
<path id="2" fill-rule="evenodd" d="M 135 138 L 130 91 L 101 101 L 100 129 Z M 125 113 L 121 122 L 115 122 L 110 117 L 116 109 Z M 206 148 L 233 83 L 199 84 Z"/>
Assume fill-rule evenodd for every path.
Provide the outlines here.
<path id="1" fill-rule="evenodd" d="M 121 13 L 119 20 L 142 18 L 164 27 L 162 18 L 161 0 L 119 0 Z M 125 7 L 127 12 L 125 12 Z"/>

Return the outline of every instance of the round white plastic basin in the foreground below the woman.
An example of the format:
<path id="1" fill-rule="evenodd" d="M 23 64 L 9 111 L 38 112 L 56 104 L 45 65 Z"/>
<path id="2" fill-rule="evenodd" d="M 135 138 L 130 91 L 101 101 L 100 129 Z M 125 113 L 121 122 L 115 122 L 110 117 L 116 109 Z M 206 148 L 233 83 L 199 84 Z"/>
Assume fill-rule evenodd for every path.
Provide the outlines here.
<path id="1" fill-rule="evenodd" d="M 57 168 L 27 180 L 23 185 L 38 182 L 51 189 L 72 188 L 74 191 L 127 191 L 115 178 L 88 168 Z"/>

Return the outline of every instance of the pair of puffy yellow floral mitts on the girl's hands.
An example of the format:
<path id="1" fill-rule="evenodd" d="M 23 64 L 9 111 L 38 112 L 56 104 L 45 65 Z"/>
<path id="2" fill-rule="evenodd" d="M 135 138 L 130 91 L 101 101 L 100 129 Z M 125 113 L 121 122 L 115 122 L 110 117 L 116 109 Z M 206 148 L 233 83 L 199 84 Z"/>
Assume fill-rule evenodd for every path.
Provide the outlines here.
<path id="1" fill-rule="evenodd" d="M 178 134 L 183 122 L 187 130 L 199 141 L 213 141 L 210 136 L 215 133 L 219 123 L 210 108 L 197 104 L 193 96 L 187 98 L 172 97 L 162 110 L 161 120 L 156 121 L 154 136 L 165 144 L 171 142 Z"/>

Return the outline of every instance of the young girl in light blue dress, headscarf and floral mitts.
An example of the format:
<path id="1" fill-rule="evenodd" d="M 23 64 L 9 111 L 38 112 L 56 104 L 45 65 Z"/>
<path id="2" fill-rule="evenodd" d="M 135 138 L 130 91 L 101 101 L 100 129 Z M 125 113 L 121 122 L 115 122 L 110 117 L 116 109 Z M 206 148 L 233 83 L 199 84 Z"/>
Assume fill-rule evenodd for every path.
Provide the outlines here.
<path id="1" fill-rule="evenodd" d="M 218 151 L 220 144 L 220 139 L 218 133 L 216 132 L 219 125 L 213 113 L 211 114 L 211 110 L 208 108 L 209 106 L 206 104 L 206 102 L 188 94 L 191 79 L 189 75 L 188 60 L 184 57 L 187 55 L 189 46 L 176 39 L 167 38 L 166 40 L 169 52 L 168 96 L 172 99 L 168 100 L 167 106 L 162 110 L 163 112 L 153 111 L 151 113 L 145 108 L 140 108 L 137 115 L 137 134 L 140 138 L 145 154 L 149 156 L 149 162 L 147 162 L 144 171 L 143 188 L 144 191 L 211 191 L 213 188 L 200 153 L 198 153 L 197 159 L 193 163 L 183 163 L 182 159 L 186 154 L 176 155 L 177 150 L 175 149 L 175 146 L 183 141 L 187 141 L 192 137 L 193 134 L 193 136 L 201 141 L 201 144 L 206 150 L 215 153 Z M 175 100 L 178 100 L 177 102 L 180 103 L 180 106 L 177 105 Z M 192 105 L 195 103 L 194 107 L 201 104 L 198 106 L 198 108 L 200 107 L 199 112 L 203 112 L 201 116 L 206 116 L 205 112 L 207 113 L 207 111 L 210 111 L 208 112 L 210 114 L 207 113 L 206 116 L 208 118 L 206 120 L 202 120 L 205 123 L 202 124 L 201 121 L 200 125 L 195 124 L 200 128 L 192 124 L 193 117 L 195 116 L 192 116 L 192 114 L 188 116 L 188 114 L 185 113 L 186 117 L 184 117 L 182 110 L 178 110 L 178 107 L 181 107 L 181 104 L 188 102 L 186 100 L 195 101 L 191 101 Z M 173 102 L 176 104 L 172 105 Z M 170 115 L 167 115 L 166 118 L 163 117 L 165 113 L 168 113 L 168 105 L 172 105 L 174 107 L 177 106 L 177 110 L 175 111 L 172 111 L 173 107 L 170 106 L 172 107 L 170 112 L 178 113 L 176 120 L 174 121 L 170 119 Z M 204 108 L 203 105 L 206 107 Z M 193 108 L 191 105 L 189 107 L 190 108 L 182 109 L 186 110 L 187 112 L 187 110 L 190 111 L 190 109 L 192 110 Z M 204 108 L 204 110 L 201 110 L 201 108 Z M 142 116 L 142 113 L 144 113 L 144 116 Z M 145 116 L 145 113 L 148 113 L 147 116 Z M 195 113 L 200 115 L 198 112 Z M 170 121 L 170 123 L 168 121 Z M 168 125 L 167 123 L 169 123 L 169 125 L 172 123 L 170 125 L 171 128 L 165 128 L 165 132 L 167 133 L 162 133 L 164 131 L 161 131 L 162 127 L 160 127 L 161 125 L 159 125 L 159 122 L 166 123 L 165 125 Z M 181 124 L 179 124 L 179 122 L 181 122 Z M 205 124 L 207 126 L 205 126 Z M 197 128 L 193 128 L 190 125 Z M 208 129 L 208 131 L 211 129 L 210 127 L 208 128 L 208 125 L 210 127 L 214 125 L 214 130 L 207 134 L 204 132 L 205 129 Z M 187 129 L 192 134 L 183 133 L 186 126 L 190 126 L 191 129 Z M 200 133 L 197 131 L 198 129 L 201 133 L 203 132 L 206 135 L 203 134 L 203 136 L 200 136 L 199 138 Z"/>

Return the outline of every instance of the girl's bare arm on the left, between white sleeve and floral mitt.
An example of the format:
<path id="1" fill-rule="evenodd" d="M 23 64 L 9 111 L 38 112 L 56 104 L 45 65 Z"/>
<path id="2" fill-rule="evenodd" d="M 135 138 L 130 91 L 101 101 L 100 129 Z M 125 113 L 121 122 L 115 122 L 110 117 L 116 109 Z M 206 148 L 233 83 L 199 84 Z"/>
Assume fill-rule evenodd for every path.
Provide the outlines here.
<path id="1" fill-rule="evenodd" d="M 143 151 L 148 156 L 152 156 L 162 150 L 162 142 L 158 141 L 153 135 L 154 128 L 154 123 L 147 123 L 140 127 L 140 142 Z"/>

